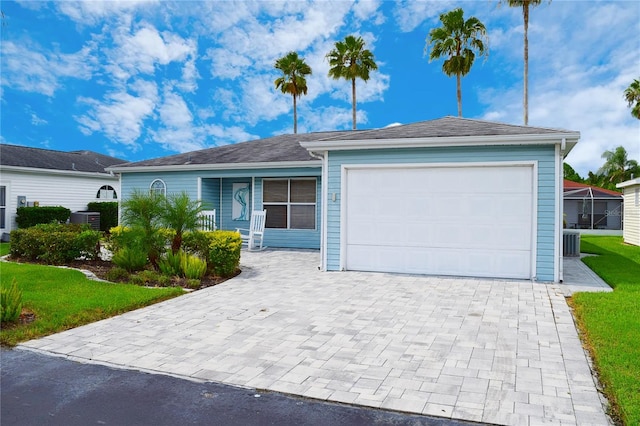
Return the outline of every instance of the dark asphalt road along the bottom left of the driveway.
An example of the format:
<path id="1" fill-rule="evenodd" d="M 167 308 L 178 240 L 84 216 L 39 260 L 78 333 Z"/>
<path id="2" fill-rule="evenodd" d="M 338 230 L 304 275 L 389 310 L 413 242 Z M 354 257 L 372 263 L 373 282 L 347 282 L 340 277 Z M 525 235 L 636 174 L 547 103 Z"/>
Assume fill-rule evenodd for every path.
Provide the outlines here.
<path id="1" fill-rule="evenodd" d="M 0 423 L 9 425 L 430 425 L 406 415 L 160 374 L 0 351 Z"/>

